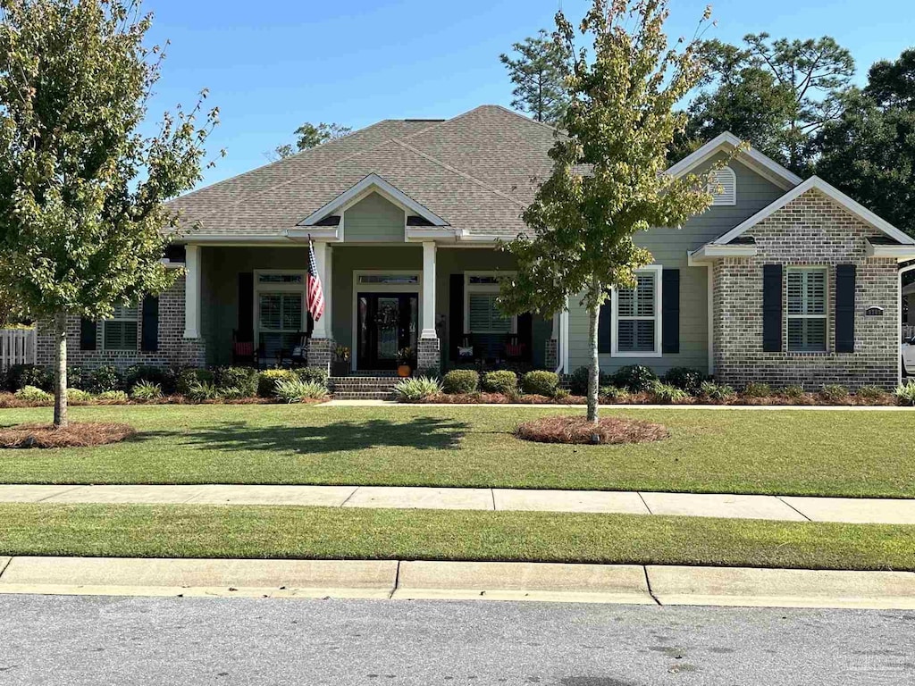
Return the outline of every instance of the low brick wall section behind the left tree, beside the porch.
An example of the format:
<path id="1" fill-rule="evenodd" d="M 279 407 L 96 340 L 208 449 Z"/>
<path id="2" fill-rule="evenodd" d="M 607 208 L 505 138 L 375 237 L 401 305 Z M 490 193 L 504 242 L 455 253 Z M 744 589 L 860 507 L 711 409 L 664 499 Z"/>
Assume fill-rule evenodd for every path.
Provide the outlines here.
<path id="1" fill-rule="evenodd" d="M 143 339 L 143 317 L 137 322 L 136 350 L 103 350 L 102 324 L 97 325 L 95 350 L 80 349 L 81 319 L 70 316 L 67 320 L 67 364 L 83 369 L 95 369 L 102 365 L 113 365 L 124 369 L 133 364 L 156 367 L 203 367 L 206 347 L 202 339 L 184 338 L 184 276 L 159 295 L 159 346 L 156 352 L 139 349 Z M 48 327 L 38 324 L 38 364 L 54 364 L 54 338 L 47 333 Z"/>

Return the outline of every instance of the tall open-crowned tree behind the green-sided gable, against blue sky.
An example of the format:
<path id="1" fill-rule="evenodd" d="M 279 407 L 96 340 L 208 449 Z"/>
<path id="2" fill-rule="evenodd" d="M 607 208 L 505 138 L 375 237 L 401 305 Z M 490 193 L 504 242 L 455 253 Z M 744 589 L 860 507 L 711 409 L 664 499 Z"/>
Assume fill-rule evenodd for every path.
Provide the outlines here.
<path id="1" fill-rule="evenodd" d="M 742 48 L 707 41 L 703 54 L 709 76 L 689 108 L 688 134 L 730 130 L 792 170 L 809 171 L 815 135 L 842 111 L 855 73 L 851 53 L 828 36 L 761 33 L 745 36 Z"/>

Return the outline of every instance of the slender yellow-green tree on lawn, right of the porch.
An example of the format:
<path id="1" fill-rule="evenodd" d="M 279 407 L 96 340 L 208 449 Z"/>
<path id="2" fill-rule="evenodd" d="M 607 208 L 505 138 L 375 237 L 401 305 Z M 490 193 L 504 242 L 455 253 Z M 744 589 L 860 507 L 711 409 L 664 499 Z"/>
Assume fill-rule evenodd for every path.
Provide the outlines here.
<path id="1" fill-rule="evenodd" d="M 710 10 L 705 11 L 703 22 Z M 506 312 L 543 315 L 580 296 L 588 313 L 587 417 L 597 422 L 597 322 L 612 287 L 632 287 L 651 253 L 633 237 L 679 226 L 712 202 L 711 174 L 664 174 L 667 148 L 685 114 L 673 107 L 703 75 L 698 41 L 668 48 L 667 0 L 593 0 L 576 51 L 576 31 L 560 12 L 557 40 L 574 55 L 569 106 L 550 150 L 552 175 L 523 214 L 533 237 L 506 248 L 518 274 L 502 284 Z M 590 57 L 589 56 L 593 56 Z"/>

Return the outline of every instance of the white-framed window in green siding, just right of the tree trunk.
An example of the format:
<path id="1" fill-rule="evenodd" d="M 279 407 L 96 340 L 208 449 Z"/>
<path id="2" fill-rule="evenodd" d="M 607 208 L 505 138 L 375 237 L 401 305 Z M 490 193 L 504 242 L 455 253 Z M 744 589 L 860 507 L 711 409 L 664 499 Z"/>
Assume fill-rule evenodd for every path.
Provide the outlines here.
<path id="1" fill-rule="evenodd" d="M 661 267 L 636 274 L 635 288 L 613 294 L 614 356 L 660 357 Z"/>

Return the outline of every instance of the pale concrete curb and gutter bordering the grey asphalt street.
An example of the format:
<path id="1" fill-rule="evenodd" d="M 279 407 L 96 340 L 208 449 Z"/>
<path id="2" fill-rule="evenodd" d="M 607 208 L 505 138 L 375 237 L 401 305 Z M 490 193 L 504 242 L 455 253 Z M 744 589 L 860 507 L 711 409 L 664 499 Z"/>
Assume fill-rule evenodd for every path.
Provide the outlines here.
<path id="1" fill-rule="evenodd" d="M 0 594 L 915 609 L 915 573 L 640 564 L 0 558 Z"/>

